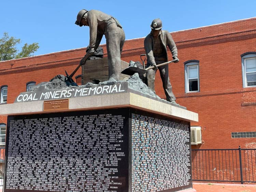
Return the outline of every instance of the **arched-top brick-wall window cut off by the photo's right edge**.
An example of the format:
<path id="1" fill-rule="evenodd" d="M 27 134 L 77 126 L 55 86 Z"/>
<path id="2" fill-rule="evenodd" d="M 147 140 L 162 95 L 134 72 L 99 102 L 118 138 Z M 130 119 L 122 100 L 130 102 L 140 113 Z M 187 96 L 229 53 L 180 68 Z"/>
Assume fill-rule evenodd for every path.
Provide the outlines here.
<path id="1" fill-rule="evenodd" d="M 241 55 L 243 87 L 256 86 L 256 52 L 248 52 Z"/>

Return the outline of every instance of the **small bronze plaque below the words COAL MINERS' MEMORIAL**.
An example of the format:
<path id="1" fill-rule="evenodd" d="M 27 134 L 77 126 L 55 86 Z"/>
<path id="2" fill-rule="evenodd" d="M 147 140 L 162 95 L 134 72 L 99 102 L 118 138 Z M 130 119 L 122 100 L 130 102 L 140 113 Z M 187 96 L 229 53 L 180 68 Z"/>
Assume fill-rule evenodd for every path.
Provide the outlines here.
<path id="1" fill-rule="evenodd" d="M 44 101 L 44 111 L 68 109 L 69 99 Z"/>

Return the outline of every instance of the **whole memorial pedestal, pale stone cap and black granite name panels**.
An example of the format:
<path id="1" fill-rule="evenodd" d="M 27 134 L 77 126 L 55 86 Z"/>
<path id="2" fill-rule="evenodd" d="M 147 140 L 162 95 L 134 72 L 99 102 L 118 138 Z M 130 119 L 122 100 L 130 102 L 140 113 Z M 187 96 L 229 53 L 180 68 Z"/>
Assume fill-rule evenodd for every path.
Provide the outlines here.
<path id="1" fill-rule="evenodd" d="M 196 113 L 130 91 L 68 100 L 68 109 L 53 111 L 45 101 L 1 106 L 5 192 L 192 188 Z"/>

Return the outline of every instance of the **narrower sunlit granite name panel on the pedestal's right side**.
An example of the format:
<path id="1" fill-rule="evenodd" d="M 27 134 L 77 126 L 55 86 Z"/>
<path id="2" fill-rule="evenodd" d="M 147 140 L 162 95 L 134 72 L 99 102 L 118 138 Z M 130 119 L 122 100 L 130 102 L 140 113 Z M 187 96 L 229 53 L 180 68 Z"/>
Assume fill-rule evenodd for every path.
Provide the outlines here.
<path id="1" fill-rule="evenodd" d="M 132 192 L 192 188 L 190 123 L 140 111 L 130 117 Z"/>

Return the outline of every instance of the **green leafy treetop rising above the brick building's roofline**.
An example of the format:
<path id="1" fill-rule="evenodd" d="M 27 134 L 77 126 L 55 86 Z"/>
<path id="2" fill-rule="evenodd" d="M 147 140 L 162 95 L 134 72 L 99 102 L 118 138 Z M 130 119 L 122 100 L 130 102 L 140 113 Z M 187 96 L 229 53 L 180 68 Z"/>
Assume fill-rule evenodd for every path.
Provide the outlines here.
<path id="1" fill-rule="evenodd" d="M 0 39 L 0 61 L 33 56 L 32 54 L 39 48 L 38 43 L 25 43 L 22 50 L 18 52 L 16 45 L 19 43 L 21 43 L 20 39 L 10 37 L 7 32 L 4 32 Z"/>

